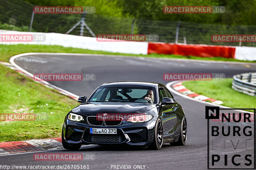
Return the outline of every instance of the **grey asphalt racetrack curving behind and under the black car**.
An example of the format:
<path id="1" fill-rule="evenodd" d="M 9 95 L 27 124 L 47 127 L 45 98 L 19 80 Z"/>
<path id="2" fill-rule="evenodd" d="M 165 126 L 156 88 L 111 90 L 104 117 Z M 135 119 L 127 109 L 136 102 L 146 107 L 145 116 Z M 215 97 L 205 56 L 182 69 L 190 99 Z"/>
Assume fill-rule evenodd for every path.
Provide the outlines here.
<path id="1" fill-rule="evenodd" d="M 224 63 L 100 55 L 27 55 L 14 60 L 21 68 L 35 73 L 92 73 L 95 81 L 49 82 L 78 96 L 91 93 L 111 81 L 148 81 L 166 85 L 164 73 L 225 73 L 226 78 L 255 72 L 255 63 Z M 164 144 L 152 151 L 137 147 L 82 146 L 79 151 L 64 149 L 41 153 L 82 153 L 93 159 L 83 161 L 34 161 L 34 153 L 0 156 L 5 165 L 89 165 L 89 169 L 111 169 L 111 165 L 145 165 L 145 169 L 207 169 L 207 120 L 205 104 L 173 94 L 182 105 L 188 122 L 185 146 Z M 79 103 L 77 103 L 78 105 Z M 209 105 L 210 106 L 210 105 Z M 74 106 L 75 107 L 75 106 Z M 60 118 L 63 122 L 64 118 Z M 232 151 L 235 152 L 235 151 Z M 238 151 L 239 152 L 239 151 Z M 142 166 L 144 167 L 144 166 Z M 113 167 L 112 167 L 113 169 Z"/>

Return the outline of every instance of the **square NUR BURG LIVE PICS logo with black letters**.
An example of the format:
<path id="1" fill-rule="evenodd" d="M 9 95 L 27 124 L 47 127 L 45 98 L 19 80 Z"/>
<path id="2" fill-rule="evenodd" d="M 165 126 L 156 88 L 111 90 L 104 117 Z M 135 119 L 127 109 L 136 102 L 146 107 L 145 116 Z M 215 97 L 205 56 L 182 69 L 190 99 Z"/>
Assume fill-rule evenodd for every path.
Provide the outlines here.
<path id="1" fill-rule="evenodd" d="M 255 169 L 255 110 L 205 107 L 208 169 Z"/>

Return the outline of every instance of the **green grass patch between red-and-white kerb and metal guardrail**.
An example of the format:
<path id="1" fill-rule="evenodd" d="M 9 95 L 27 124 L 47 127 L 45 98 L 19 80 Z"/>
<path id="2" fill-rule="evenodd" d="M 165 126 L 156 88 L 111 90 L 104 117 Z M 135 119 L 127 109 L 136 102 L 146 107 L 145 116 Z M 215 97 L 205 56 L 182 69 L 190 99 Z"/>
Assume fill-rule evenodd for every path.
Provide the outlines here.
<path id="1" fill-rule="evenodd" d="M 220 81 L 184 81 L 183 85 L 198 94 L 223 101 L 223 106 L 255 108 L 256 97 L 233 90 L 232 78 Z"/>

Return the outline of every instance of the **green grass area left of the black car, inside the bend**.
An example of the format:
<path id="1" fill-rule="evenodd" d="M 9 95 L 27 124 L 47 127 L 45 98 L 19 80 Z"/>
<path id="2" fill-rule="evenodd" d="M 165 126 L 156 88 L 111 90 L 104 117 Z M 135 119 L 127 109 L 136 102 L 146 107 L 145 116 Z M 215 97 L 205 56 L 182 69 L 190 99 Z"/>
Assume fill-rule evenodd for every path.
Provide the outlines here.
<path id="1" fill-rule="evenodd" d="M 46 115 L 43 121 L 0 121 L 0 142 L 60 137 L 65 115 L 78 103 L 0 64 L 0 114 Z M 52 114 L 51 114 L 52 112 Z"/>

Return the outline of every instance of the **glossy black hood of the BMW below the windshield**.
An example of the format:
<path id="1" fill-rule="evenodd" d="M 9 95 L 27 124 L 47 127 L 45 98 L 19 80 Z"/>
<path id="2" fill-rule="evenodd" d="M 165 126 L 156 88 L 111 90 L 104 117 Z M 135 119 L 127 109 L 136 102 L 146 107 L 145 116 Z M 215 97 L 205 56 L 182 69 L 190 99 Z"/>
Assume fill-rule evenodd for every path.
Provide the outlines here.
<path id="1" fill-rule="evenodd" d="M 73 112 L 83 115 L 95 115 L 97 113 L 141 114 L 156 106 L 158 104 L 154 103 L 95 102 L 80 104 L 73 109 Z"/>

